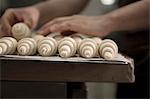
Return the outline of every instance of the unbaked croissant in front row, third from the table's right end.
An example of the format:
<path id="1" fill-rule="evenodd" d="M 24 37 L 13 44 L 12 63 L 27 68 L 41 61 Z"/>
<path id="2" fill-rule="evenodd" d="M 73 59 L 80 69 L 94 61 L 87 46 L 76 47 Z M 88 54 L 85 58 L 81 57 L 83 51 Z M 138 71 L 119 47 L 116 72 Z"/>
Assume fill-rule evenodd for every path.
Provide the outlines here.
<path id="1" fill-rule="evenodd" d="M 58 52 L 61 57 L 74 56 L 77 50 L 76 41 L 71 37 L 64 37 L 58 44 Z"/>

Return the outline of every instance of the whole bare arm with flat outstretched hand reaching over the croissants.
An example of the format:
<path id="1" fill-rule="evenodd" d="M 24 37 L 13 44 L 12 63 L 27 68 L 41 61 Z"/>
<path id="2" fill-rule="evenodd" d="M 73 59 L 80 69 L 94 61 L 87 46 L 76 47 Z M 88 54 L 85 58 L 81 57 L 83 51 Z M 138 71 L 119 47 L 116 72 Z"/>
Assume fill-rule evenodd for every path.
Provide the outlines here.
<path id="1" fill-rule="evenodd" d="M 44 25 L 39 33 L 75 31 L 106 36 L 115 31 L 134 31 L 148 28 L 149 0 L 142 0 L 102 16 L 70 16 L 58 18 Z"/>

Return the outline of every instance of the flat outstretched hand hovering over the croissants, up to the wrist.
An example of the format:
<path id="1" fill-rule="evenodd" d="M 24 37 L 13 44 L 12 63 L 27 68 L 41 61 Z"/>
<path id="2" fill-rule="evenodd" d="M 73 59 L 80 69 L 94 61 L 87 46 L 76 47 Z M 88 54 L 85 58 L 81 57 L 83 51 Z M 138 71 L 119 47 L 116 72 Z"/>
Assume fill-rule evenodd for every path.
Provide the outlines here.
<path id="1" fill-rule="evenodd" d="M 39 34 L 73 31 L 93 36 L 106 36 L 110 32 L 109 20 L 105 16 L 81 16 L 56 18 L 39 29 Z M 67 32 L 66 32 L 67 33 Z"/>

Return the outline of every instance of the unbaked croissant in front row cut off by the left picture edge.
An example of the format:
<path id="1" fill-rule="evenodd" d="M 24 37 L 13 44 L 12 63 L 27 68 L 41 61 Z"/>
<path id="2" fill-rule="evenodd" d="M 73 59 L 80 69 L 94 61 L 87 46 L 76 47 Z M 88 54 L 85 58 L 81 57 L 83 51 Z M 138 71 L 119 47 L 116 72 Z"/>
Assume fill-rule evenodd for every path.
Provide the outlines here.
<path id="1" fill-rule="evenodd" d="M 3 37 L 0 39 L 0 55 L 14 54 L 16 47 L 16 39 L 12 37 Z"/>

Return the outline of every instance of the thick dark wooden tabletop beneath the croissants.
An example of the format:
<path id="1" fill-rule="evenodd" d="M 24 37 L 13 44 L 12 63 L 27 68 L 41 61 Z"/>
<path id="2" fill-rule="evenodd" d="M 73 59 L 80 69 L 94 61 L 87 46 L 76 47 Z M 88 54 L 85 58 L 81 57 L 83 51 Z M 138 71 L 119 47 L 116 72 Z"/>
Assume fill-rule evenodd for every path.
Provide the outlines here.
<path id="1" fill-rule="evenodd" d="M 0 57 L 1 81 L 27 82 L 134 82 L 131 61 L 31 59 Z M 64 88 L 65 90 L 65 88 Z"/>

